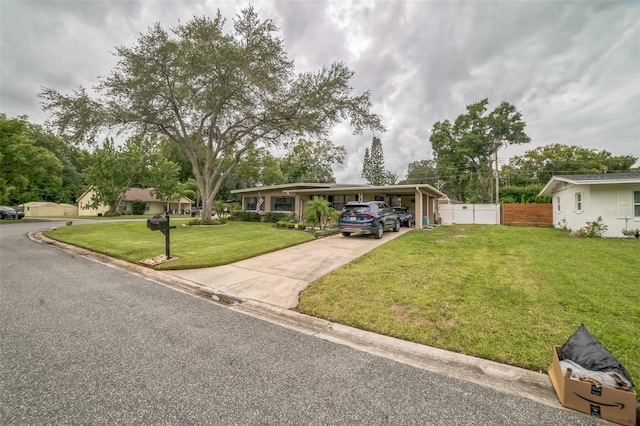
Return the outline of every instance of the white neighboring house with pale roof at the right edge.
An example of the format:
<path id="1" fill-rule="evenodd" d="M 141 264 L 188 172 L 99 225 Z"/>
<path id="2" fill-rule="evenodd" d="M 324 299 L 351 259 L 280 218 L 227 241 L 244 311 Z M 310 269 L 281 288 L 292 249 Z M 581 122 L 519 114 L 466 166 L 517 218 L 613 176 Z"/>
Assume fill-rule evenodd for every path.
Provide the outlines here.
<path id="1" fill-rule="evenodd" d="M 556 228 L 577 231 L 598 217 L 608 227 L 604 237 L 640 228 L 640 173 L 553 176 L 540 195 L 553 198 Z"/>

